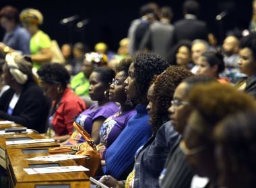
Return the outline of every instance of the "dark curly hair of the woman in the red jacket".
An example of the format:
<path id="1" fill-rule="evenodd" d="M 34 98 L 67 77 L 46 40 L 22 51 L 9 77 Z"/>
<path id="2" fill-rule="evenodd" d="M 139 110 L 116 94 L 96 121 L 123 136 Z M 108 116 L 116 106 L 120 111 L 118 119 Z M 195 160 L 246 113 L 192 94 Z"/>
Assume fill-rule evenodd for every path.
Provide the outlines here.
<path id="1" fill-rule="evenodd" d="M 63 87 L 67 87 L 70 75 L 63 64 L 48 63 L 40 67 L 37 72 L 40 79 L 49 84 L 61 83 Z"/>

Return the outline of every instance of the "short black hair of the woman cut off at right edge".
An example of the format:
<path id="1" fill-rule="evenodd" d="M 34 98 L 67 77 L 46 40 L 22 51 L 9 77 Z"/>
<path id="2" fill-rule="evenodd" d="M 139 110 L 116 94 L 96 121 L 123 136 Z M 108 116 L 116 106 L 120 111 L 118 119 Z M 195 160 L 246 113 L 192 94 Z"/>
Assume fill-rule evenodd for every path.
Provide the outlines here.
<path id="1" fill-rule="evenodd" d="M 256 32 L 251 32 L 241 38 L 239 48 L 249 48 L 253 52 L 253 58 L 256 60 Z"/>

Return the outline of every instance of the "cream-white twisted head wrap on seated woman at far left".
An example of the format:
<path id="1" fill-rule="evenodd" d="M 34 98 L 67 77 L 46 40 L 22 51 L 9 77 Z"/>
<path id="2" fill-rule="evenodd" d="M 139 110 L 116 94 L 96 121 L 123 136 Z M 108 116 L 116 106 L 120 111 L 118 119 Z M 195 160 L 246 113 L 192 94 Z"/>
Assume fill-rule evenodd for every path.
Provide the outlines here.
<path id="1" fill-rule="evenodd" d="M 5 56 L 5 62 L 15 81 L 17 81 L 20 84 L 24 84 L 28 80 L 28 75 L 20 71 L 18 64 L 15 62 L 16 56 L 19 56 L 19 54 L 15 52 L 7 54 Z"/>

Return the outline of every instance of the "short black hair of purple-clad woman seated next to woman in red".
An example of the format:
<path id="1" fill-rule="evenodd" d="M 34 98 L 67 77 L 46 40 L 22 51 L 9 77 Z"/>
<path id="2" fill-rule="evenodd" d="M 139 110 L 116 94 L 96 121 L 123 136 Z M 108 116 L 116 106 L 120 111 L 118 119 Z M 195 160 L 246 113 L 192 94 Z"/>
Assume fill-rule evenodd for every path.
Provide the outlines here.
<path id="1" fill-rule="evenodd" d="M 107 66 L 94 68 L 92 73 L 94 72 L 100 74 L 100 81 L 106 85 L 109 85 L 115 78 L 115 71 L 113 71 L 111 68 L 108 68 Z"/>

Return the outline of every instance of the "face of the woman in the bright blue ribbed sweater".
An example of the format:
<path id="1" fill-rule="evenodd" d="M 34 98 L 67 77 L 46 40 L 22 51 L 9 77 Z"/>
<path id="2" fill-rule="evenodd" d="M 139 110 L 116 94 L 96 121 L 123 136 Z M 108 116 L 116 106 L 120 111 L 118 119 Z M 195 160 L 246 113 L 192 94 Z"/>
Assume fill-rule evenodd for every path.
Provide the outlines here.
<path id="1" fill-rule="evenodd" d="M 130 65 L 128 74 L 129 74 L 129 76 L 125 80 L 125 93 L 126 93 L 128 99 L 133 100 L 133 99 L 136 98 L 135 77 L 134 77 L 134 62 Z"/>

